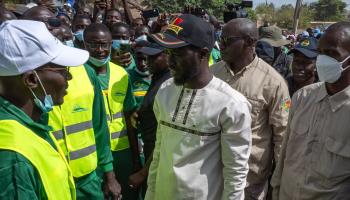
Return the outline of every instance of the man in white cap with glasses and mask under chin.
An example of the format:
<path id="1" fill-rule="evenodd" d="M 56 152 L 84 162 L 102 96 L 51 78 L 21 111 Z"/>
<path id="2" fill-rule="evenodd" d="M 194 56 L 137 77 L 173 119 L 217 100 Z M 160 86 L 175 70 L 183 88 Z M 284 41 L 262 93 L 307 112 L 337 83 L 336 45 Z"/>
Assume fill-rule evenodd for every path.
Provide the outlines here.
<path id="1" fill-rule="evenodd" d="M 0 46 L 0 199 L 74 200 L 73 176 L 50 137 L 48 112 L 67 94 L 66 66 L 83 64 L 89 54 L 29 20 L 3 22 Z"/>

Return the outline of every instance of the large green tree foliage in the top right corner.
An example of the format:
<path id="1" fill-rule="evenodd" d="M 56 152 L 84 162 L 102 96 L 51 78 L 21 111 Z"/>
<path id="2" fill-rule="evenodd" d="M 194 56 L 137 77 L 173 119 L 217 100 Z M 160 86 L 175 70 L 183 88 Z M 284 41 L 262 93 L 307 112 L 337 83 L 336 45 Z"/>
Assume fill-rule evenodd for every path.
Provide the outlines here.
<path id="1" fill-rule="evenodd" d="M 315 11 L 314 19 L 317 21 L 340 21 L 345 19 L 346 3 L 342 0 L 319 0 L 310 6 Z"/>

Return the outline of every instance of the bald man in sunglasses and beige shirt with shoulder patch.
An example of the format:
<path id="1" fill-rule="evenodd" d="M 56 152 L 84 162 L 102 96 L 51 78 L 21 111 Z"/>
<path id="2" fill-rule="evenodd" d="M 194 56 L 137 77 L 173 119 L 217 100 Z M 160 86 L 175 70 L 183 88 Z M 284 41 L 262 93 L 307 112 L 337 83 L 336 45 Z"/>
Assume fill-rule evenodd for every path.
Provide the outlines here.
<path id="1" fill-rule="evenodd" d="M 256 24 L 233 19 L 222 31 L 222 62 L 213 74 L 241 92 L 252 105 L 252 153 L 245 189 L 246 199 L 265 199 L 273 161 L 278 160 L 286 131 L 290 98 L 283 77 L 255 54 Z"/>

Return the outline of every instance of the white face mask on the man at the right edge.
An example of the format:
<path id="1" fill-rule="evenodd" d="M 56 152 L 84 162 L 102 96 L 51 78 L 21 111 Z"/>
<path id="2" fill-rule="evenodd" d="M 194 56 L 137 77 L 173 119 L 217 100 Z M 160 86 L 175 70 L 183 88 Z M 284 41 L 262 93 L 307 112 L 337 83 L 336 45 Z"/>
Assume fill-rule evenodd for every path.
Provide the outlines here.
<path id="1" fill-rule="evenodd" d="M 339 80 L 341 73 L 345 71 L 349 66 L 343 68 L 343 64 L 350 58 L 346 57 L 343 61 L 339 62 L 336 59 L 327 55 L 318 55 L 316 60 L 317 74 L 320 81 L 327 83 L 335 83 Z"/>

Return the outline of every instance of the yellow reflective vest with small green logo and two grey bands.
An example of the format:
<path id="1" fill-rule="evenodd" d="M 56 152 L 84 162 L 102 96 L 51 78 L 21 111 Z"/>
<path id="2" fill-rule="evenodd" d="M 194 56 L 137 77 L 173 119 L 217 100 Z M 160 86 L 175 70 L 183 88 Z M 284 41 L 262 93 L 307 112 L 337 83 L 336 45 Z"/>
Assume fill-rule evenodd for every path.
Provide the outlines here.
<path id="1" fill-rule="evenodd" d="M 72 67 L 69 72 L 73 78 L 68 82 L 64 103 L 50 112 L 49 124 L 68 158 L 73 176 L 81 177 L 97 167 L 92 124 L 94 88 L 84 66 Z"/>

